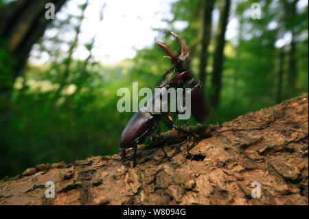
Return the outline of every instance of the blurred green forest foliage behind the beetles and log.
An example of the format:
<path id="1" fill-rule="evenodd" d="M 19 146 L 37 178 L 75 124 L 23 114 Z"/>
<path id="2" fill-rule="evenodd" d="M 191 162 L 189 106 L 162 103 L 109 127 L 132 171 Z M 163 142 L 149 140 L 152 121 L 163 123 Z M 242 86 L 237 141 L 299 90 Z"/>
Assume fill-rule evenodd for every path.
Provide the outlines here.
<path id="1" fill-rule="evenodd" d="M 0 6 L 4 2 L 0 1 Z M 240 27 L 238 36 L 225 45 L 220 106 L 216 109 L 219 122 L 276 104 L 279 49 L 275 42 L 291 27 L 297 30 L 297 89 L 293 91 L 288 83 L 286 45 L 282 99 L 308 92 L 308 6 L 297 10 L 295 20 L 287 25 L 283 1 L 259 1 L 263 10 L 261 20 L 248 16 L 251 3 L 255 1 L 235 2 L 229 20 L 237 19 Z M 202 4 L 203 1 L 174 1 L 173 19 L 166 21 L 168 28 L 179 33 L 192 50 L 195 75 L 201 50 Z M 176 21 L 185 21 L 188 25 L 184 30 L 176 30 Z M 127 87 L 132 91 L 132 82 L 139 82 L 139 89 L 154 87 L 163 73 L 170 69 L 170 60 L 163 58 L 165 54 L 157 45 L 137 51 L 131 60 L 104 65 L 95 62 L 91 56 L 91 40 L 82 45 L 90 52 L 89 57 L 74 60 L 62 51 L 61 45 L 65 44 L 73 51 L 78 42 L 60 36 L 65 32 L 78 35 L 79 22 L 82 22 L 82 16 L 70 15 L 51 23 L 49 30 L 56 30 L 56 34 L 49 38 L 45 36 L 36 45 L 41 53 L 49 54 L 49 61 L 42 66 L 28 63 L 23 75 L 16 79 L 12 78 L 14 59 L 8 53 L 7 43 L 0 41 L 1 88 L 10 82 L 3 77 L 15 80 L 10 100 L 1 102 L 6 105 L 1 107 L 0 178 L 14 176 L 38 163 L 71 162 L 117 152 L 119 136 L 133 115 L 117 111 L 120 98 L 117 89 Z M 277 25 L 271 29 L 270 23 Z M 160 38 L 172 51 L 179 50 L 174 38 L 160 32 Z M 209 80 L 213 38 L 209 52 L 205 93 L 213 92 Z M 214 116 L 211 122 L 215 122 Z M 179 122 L 181 124 L 183 122 Z M 196 121 L 191 118 L 190 124 L 196 124 Z M 163 127 L 164 130 L 167 128 Z"/>

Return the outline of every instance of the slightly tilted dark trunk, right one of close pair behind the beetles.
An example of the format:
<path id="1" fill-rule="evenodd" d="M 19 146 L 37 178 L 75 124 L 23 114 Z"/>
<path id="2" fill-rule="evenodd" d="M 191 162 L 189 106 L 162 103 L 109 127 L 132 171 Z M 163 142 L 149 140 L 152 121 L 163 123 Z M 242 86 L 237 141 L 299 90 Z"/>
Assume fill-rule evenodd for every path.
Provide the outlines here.
<path id="1" fill-rule="evenodd" d="M 225 49 L 225 32 L 227 30 L 227 23 L 229 20 L 229 8 L 231 6 L 231 0 L 225 0 L 225 6 L 220 12 L 220 21 L 218 25 L 218 33 L 216 38 L 216 51 L 214 54 L 214 70 L 212 73 L 212 85 L 214 86 L 214 94 L 211 104 L 214 107 L 219 106 L 221 80 L 222 80 L 222 67 L 224 62 L 223 51 Z"/>

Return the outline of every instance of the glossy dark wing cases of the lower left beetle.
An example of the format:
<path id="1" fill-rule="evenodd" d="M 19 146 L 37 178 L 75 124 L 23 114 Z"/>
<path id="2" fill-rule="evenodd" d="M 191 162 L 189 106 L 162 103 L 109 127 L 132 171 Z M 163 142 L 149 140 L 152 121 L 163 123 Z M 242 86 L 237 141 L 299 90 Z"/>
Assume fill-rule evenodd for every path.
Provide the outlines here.
<path id="1" fill-rule="evenodd" d="M 142 109 L 136 112 L 122 132 L 119 150 L 130 148 L 137 140 L 150 135 L 155 128 L 155 123 L 157 120 L 148 111 Z"/>

